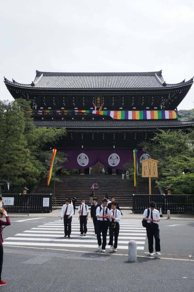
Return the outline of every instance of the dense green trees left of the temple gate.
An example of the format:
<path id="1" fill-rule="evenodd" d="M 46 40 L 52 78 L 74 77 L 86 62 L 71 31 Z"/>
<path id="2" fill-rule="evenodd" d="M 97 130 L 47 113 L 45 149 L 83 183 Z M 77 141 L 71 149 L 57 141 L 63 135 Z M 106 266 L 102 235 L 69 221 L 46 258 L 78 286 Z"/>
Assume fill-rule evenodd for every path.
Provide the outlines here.
<path id="1" fill-rule="evenodd" d="M 35 128 L 30 110 L 26 100 L 0 102 L 0 178 L 12 187 L 32 186 L 47 175 L 52 152 L 44 149 L 66 135 L 64 128 Z M 66 158 L 58 152 L 56 160 L 58 170 Z"/>

